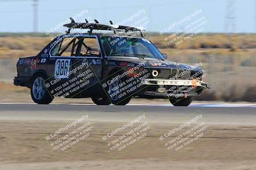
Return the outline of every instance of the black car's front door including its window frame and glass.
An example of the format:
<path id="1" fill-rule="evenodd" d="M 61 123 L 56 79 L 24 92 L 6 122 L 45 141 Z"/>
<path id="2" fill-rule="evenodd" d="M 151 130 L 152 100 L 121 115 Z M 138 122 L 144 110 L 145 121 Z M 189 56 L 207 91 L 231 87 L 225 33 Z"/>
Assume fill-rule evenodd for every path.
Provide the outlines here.
<path id="1" fill-rule="evenodd" d="M 72 69 L 76 70 L 75 79 L 79 83 L 76 97 L 98 96 L 102 93 L 102 54 L 97 36 L 80 36 L 77 42 L 77 56 L 73 59 Z"/>

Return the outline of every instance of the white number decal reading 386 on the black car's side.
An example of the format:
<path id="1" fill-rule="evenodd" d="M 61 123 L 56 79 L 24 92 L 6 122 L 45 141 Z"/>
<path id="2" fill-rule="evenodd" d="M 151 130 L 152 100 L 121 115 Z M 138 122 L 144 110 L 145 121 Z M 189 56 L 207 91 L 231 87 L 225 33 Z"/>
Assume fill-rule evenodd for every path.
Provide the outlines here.
<path id="1" fill-rule="evenodd" d="M 54 68 L 54 78 L 68 78 L 70 59 L 57 59 Z"/>

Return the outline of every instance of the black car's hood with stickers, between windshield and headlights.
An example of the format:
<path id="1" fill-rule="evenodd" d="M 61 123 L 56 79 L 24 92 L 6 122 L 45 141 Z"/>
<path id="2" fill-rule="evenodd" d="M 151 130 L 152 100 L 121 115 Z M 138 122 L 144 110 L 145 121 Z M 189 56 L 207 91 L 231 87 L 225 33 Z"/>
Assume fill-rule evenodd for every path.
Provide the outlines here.
<path id="1" fill-rule="evenodd" d="M 154 69 L 166 69 L 166 68 L 177 68 L 177 69 L 191 69 L 195 71 L 201 71 L 202 69 L 197 66 L 189 66 L 188 64 L 183 64 L 179 62 L 170 62 L 168 60 L 157 60 L 157 59 L 140 59 L 137 57 L 108 57 L 108 60 L 119 61 L 119 62 L 129 62 L 133 64 L 143 63 L 145 68 L 154 68 Z"/>

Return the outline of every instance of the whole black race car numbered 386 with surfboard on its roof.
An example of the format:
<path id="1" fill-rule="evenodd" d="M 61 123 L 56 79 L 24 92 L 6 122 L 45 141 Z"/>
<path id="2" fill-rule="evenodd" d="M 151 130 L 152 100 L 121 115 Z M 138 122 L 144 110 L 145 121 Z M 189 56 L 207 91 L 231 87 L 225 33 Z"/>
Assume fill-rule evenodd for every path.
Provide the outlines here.
<path id="1" fill-rule="evenodd" d="M 35 103 L 49 104 L 61 96 L 125 105 L 131 97 L 145 97 L 188 106 L 193 96 L 209 89 L 200 64 L 167 61 L 140 28 L 70 19 L 64 25 L 67 34 L 54 38 L 38 55 L 17 62 L 14 84 L 30 88 Z M 71 29 L 89 31 L 70 34 Z"/>

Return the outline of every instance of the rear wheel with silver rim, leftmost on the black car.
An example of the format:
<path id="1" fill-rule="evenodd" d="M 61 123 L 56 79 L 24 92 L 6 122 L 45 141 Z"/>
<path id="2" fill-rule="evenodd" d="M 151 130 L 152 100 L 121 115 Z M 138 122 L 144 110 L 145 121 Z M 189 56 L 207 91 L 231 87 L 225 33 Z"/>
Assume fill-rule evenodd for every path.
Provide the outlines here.
<path id="1" fill-rule="evenodd" d="M 50 96 L 44 81 L 47 77 L 44 74 L 36 74 L 31 83 L 30 94 L 33 101 L 37 104 L 49 104 L 52 102 L 53 97 Z"/>

